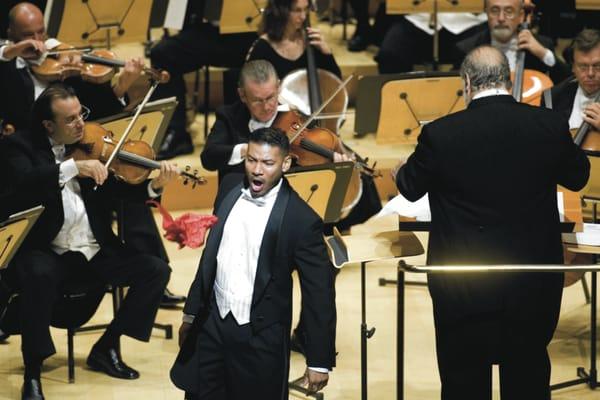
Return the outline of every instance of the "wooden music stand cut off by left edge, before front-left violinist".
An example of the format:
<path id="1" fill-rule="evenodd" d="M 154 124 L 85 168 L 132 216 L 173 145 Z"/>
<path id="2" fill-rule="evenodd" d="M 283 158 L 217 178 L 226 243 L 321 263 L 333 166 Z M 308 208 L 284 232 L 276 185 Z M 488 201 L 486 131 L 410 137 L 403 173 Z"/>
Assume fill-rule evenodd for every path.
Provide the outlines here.
<path id="1" fill-rule="evenodd" d="M 37 206 L 0 222 L 0 270 L 8 266 L 43 211 L 43 206 Z"/>

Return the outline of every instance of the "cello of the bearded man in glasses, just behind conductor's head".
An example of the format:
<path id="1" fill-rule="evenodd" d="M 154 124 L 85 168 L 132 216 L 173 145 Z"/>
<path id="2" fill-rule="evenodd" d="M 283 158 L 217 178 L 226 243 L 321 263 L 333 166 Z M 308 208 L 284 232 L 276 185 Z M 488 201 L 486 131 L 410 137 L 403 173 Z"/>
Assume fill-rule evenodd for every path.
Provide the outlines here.
<path id="1" fill-rule="evenodd" d="M 521 30 L 529 29 L 531 13 L 535 5 L 531 2 L 526 2 L 524 8 L 525 19 L 521 24 Z M 554 83 L 548 75 L 540 71 L 525 69 L 525 56 L 526 50 L 517 51 L 515 70 L 511 72 L 511 80 L 513 82 L 512 95 L 520 103 L 539 106 L 542 103 L 542 93 L 544 90 L 554 86 Z"/>

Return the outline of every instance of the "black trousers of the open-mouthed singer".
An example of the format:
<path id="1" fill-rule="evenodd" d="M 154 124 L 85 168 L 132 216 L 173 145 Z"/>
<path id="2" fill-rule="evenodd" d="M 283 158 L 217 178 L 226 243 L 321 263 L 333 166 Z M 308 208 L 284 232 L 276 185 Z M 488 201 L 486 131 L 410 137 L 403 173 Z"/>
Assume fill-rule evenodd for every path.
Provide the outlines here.
<path id="1" fill-rule="evenodd" d="M 231 313 L 221 319 L 213 301 L 196 347 L 201 389 L 186 399 L 287 400 L 288 337 L 281 324 L 253 333 L 250 324 L 238 325 Z"/>

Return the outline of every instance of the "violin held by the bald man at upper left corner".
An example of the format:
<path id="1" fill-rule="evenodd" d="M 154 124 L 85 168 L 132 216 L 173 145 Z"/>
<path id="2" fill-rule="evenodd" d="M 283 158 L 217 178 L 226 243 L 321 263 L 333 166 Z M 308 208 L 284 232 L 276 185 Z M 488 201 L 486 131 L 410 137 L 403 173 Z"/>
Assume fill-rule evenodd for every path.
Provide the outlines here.
<path id="1" fill-rule="evenodd" d="M 31 71 L 43 82 L 62 81 L 80 76 L 85 81 L 101 84 L 110 81 L 117 68 L 124 66 L 125 61 L 118 60 L 115 53 L 110 50 L 84 51 L 61 44 L 52 51 L 46 52 L 40 65 L 31 65 Z M 166 83 L 170 79 L 167 71 L 148 67 L 144 67 L 143 71 L 160 83 Z"/>

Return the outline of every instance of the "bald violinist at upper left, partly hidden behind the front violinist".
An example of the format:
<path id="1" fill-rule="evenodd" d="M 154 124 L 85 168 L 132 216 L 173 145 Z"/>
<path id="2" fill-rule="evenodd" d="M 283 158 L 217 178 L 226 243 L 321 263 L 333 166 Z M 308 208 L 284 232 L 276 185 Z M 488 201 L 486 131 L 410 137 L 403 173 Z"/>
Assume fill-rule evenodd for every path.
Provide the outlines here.
<path id="1" fill-rule="evenodd" d="M 34 100 L 48 86 L 48 82 L 38 79 L 31 70 L 40 54 L 58 44 L 55 39 L 47 39 L 44 16 L 40 9 L 30 3 L 19 3 L 9 13 L 7 31 L 12 44 L 0 47 L 0 92 L 19 94 L 0 96 L 0 118 L 9 131 L 25 129 L 29 124 L 29 110 Z M 123 111 L 123 98 L 140 76 L 144 64 L 141 59 L 130 59 L 115 86 L 110 83 L 95 84 L 72 77 L 65 82 L 72 86 L 82 104 L 90 108 L 90 119 L 107 117 Z M 129 223 L 124 224 L 124 237 L 139 251 L 154 254 L 168 262 L 166 250 L 154 223 L 152 213 L 143 204 L 124 204 L 124 214 Z M 135 221 L 132 223 L 131 221 Z M 184 296 L 165 290 L 161 304 L 173 306 L 185 301 Z"/>

